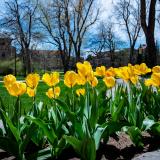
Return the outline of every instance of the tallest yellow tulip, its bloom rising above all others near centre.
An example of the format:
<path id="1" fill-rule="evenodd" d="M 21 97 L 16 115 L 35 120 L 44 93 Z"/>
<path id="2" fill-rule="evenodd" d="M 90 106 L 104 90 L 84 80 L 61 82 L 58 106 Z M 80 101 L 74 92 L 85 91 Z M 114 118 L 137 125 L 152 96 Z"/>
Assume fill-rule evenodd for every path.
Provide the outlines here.
<path id="1" fill-rule="evenodd" d="M 78 62 L 77 64 L 77 69 L 78 69 L 78 73 L 79 75 L 83 76 L 83 77 L 87 77 L 91 71 L 92 71 L 92 66 L 89 62 L 84 61 L 84 63 Z"/>

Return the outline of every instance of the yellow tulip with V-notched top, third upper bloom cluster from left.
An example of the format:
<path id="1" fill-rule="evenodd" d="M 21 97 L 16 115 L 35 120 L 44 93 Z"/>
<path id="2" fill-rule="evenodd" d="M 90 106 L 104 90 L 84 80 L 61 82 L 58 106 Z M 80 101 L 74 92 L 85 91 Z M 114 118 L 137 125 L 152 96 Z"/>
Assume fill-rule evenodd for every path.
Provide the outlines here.
<path id="1" fill-rule="evenodd" d="M 55 86 L 59 83 L 59 73 L 52 72 L 51 74 L 45 73 L 42 77 L 42 80 L 50 87 Z"/>

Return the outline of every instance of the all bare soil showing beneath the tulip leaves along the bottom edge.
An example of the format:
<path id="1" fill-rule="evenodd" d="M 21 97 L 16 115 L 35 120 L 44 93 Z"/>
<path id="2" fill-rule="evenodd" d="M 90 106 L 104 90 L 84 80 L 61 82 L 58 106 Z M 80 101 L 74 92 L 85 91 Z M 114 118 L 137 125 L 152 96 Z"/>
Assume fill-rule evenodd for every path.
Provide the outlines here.
<path id="1" fill-rule="evenodd" d="M 107 144 L 101 143 L 97 151 L 97 160 L 131 160 L 143 153 L 158 150 L 160 148 L 160 137 L 152 137 L 148 133 L 143 133 L 143 148 L 134 146 L 129 136 L 123 132 L 109 138 Z M 0 150 L 1 160 L 13 160 L 6 152 Z M 80 160 L 72 148 L 64 150 L 57 160 Z"/>

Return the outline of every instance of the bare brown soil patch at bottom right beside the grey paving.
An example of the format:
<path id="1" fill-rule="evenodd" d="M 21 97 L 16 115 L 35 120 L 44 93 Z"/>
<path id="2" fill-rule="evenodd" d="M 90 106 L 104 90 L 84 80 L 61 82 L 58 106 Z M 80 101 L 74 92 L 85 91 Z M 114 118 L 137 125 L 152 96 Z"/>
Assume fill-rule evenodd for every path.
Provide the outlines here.
<path id="1" fill-rule="evenodd" d="M 131 160 L 143 153 L 157 150 L 160 147 L 160 138 L 143 133 L 144 147 L 136 147 L 129 136 L 119 133 L 109 138 L 107 144 L 101 144 L 97 152 L 97 160 Z"/>

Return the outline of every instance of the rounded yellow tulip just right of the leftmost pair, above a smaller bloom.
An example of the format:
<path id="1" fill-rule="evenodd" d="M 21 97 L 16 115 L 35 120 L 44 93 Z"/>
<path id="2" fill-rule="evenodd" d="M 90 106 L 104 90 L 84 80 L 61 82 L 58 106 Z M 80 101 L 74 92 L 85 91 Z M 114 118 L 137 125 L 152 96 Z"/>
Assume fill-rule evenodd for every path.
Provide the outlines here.
<path id="1" fill-rule="evenodd" d="M 28 76 L 26 77 L 27 86 L 32 89 L 37 88 L 39 80 L 40 80 L 39 74 L 37 73 L 28 74 Z"/>

